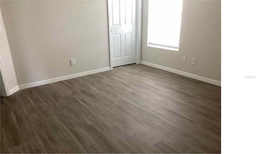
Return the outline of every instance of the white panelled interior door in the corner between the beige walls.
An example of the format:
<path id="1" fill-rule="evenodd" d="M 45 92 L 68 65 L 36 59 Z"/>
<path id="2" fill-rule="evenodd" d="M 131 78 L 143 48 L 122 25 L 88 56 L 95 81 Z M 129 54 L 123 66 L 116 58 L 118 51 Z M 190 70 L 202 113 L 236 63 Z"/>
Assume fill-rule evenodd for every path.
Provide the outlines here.
<path id="1" fill-rule="evenodd" d="M 136 0 L 108 0 L 112 67 L 136 62 Z"/>

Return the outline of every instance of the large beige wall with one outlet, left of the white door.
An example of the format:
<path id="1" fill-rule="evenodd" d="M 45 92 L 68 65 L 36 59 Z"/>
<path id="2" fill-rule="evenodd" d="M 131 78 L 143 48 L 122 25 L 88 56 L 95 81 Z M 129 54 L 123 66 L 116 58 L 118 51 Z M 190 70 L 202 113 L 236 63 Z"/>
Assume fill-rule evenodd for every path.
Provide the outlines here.
<path id="1" fill-rule="evenodd" d="M 0 3 L 19 85 L 109 66 L 107 1 Z"/>

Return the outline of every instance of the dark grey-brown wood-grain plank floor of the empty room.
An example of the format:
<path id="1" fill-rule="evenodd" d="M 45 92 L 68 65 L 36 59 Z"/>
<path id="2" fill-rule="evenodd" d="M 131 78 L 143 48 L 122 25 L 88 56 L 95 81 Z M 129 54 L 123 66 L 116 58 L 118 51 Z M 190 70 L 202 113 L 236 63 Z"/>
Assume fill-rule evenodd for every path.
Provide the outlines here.
<path id="1" fill-rule="evenodd" d="M 1 97 L 1 153 L 220 153 L 220 87 L 142 64 Z"/>

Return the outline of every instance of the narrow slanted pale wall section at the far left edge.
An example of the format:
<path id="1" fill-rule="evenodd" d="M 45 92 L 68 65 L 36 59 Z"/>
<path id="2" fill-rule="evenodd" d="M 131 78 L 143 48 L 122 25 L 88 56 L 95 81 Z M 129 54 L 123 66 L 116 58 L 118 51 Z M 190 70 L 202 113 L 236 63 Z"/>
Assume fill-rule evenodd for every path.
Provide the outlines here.
<path id="1" fill-rule="evenodd" d="M 1 12 L 1 10 L 0 10 Z M 8 39 L 6 36 L 6 29 L 2 20 L 2 14 L 0 13 L 0 18 L 1 18 L 1 32 L 0 32 L 0 57 L 1 57 L 1 64 L 3 65 L 1 68 L 3 68 L 4 70 L 4 75 L 6 78 L 6 84 L 4 85 L 6 88 L 8 88 L 8 91 L 12 90 L 13 88 L 18 86 L 17 83 L 17 78 L 16 78 L 16 74 L 15 74 L 15 70 L 14 70 L 14 66 L 13 66 L 13 62 L 12 62 L 12 55 L 10 53 L 10 48 L 9 48 L 9 44 L 8 44 Z M 3 89 L 3 74 L 1 73 L 1 96 L 7 96 L 8 92 L 6 93 L 5 90 Z"/>

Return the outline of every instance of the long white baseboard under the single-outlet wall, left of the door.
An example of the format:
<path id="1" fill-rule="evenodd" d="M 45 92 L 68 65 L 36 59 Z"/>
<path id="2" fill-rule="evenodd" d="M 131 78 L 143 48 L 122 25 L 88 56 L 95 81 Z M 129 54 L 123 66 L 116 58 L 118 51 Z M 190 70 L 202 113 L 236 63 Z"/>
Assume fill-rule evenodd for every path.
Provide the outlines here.
<path id="1" fill-rule="evenodd" d="M 28 83 L 28 84 L 22 84 L 19 85 L 19 89 L 26 89 L 26 88 L 32 88 L 32 87 L 36 87 L 36 86 L 41 86 L 44 84 L 50 84 L 53 82 L 59 82 L 59 81 L 63 81 L 63 80 L 68 80 L 68 79 L 72 79 L 72 78 L 78 78 L 81 76 L 86 76 L 86 75 L 90 75 L 90 74 L 95 74 L 95 73 L 100 73 L 100 72 L 105 72 L 110 70 L 110 67 L 105 67 L 105 68 L 100 68 L 97 70 L 89 70 L 86 72 L 81 72 L 81 73 L 77 73 L 77 74 L 71 74 L 71 75 L 67 75 L 67 76 L 61 76 L 58 78 L 52 78 L 52 79 L 48 79 L 48 80 L 42 80 L 42 81 L 38 81 L 38 82 L 32 82 L 32 83 Z"/>

